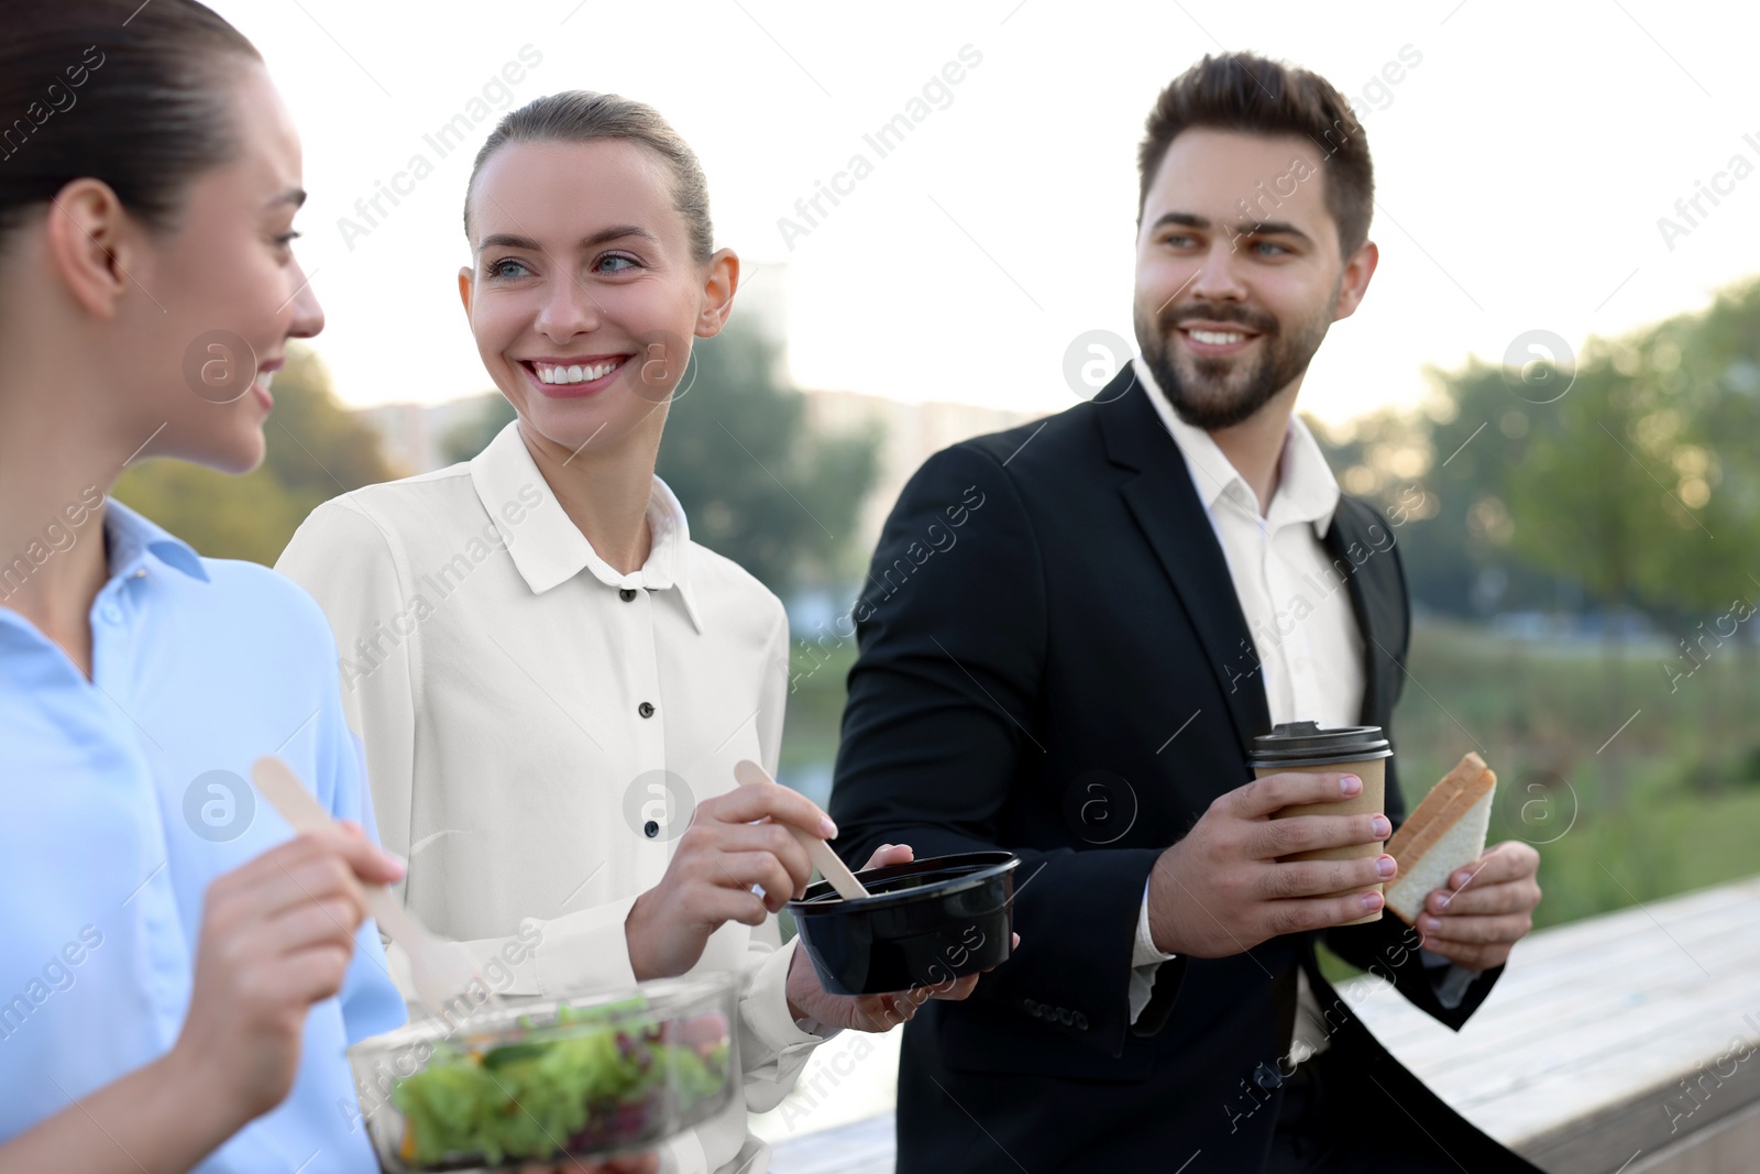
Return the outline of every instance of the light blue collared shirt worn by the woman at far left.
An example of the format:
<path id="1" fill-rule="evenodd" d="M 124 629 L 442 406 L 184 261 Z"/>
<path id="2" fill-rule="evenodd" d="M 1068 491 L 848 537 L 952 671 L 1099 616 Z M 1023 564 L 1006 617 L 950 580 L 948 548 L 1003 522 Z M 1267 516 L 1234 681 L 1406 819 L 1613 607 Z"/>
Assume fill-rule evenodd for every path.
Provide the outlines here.
<path id="1" fill-rule="evenodd" d="M 373 833 L 331 628 L 304 591 L 199 558 L 116 502 L 102 535 L 69 533 L 109 540 L 93 679 L 0 607 L 0 1139 L 176 1042 L 209 882 L 292 838 L 245 781 L 259 755 Z M 60 556 L 39 544 L 26 567 Z M 377 1172 L 343 1049 L 403 1019 L 366 922 L 341 994 L 306 1016 L 289 1098 L 197 1170 Z"/>

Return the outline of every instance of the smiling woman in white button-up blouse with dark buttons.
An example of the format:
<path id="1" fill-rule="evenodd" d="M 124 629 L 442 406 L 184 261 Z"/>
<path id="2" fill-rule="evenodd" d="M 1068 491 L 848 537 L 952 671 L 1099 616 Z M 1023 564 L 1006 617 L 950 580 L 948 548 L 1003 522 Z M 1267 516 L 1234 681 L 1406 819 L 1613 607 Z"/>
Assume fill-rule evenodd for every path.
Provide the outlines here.
<path id="1" fill-rule="evenodd" d="M 788 625 L 653 473 L 739 260 L 713 250 L 665 120 L 583 92 L 503 118 L 465 232 L 459 296 L 517 421 L 470 463 L 319 507 L 278 567 L 336 632 L 408 906 L 516 993 L 739 972 L 744 1104 L 669 1169 L 762 1170 L 746 1109 L 778 1104 L 827 1031 L 885 1030 L 926 993 L 831 996 L 780 949 L 774 914 L 811 875 L 781 824 L 836 831 L 783 787 L 734 789 L 741 759 L 776 769 Z"/>

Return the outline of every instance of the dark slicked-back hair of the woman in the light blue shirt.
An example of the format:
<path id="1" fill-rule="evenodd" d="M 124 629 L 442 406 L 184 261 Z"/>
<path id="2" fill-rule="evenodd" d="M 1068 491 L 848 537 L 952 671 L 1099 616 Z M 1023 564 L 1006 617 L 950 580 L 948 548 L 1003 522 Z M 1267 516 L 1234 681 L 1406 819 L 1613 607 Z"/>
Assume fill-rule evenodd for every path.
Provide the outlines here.
<path id="1" fill-rule="evenodd" d="M 236 157 L 227 58 L 262 60 L 195 0 L 0 0 L 0 245 L 67 183 L 102 180 L 151 231 Z"/>

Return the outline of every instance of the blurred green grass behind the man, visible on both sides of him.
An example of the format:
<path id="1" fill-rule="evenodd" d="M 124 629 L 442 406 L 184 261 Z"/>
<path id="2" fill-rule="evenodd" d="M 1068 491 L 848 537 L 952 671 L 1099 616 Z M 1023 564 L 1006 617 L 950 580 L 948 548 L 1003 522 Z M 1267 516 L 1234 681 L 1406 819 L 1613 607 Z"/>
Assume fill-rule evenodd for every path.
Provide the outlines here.
<path id="1" fill-rule="evenodd" d="M 1478 750 L 1492 840 L 1540 848 L 1540 926 L 1760 873 L 1760 649 L 1705 648 L 1693 669 L 1661 641 L 1609 657 L 1419 623 L 1394 715 L 1408 803 Z M 854 642 L 796 651 L 781 774 L 818 801 L 852 660 Z"/>

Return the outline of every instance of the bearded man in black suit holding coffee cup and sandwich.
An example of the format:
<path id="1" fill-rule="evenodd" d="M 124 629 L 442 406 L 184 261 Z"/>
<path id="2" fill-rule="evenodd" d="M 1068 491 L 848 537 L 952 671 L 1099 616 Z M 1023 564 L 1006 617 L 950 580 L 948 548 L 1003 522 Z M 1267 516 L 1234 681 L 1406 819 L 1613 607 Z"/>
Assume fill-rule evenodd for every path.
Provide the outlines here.
<path id="1" fill-rule="evenodd" d="M 1385 818 L 1271 820 L 1360 783 L 1248 767 L 1274 722 L 1387 727 L 1403 683 L 1394 532 L 1294 417 L 1376 264 L 1362 128 L 1311 72 L 1206 56 L 1139 165 L 1142 356 L 933 456 L 854 609 L 840 850 L 1024 861 L 1014 958 L 905 1031 L 898 1169 L 1531 1170 L 1382 1049 L 1313 947 L 1459 1028 L 1531 928 L 1535 850 L 1487 850 L 1415 929 L 1346 926 L 1392 857 L 1278 857 L 1385 840 L 1397 759 Z"/>

